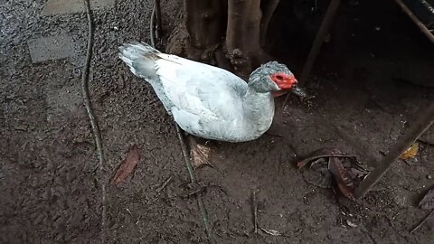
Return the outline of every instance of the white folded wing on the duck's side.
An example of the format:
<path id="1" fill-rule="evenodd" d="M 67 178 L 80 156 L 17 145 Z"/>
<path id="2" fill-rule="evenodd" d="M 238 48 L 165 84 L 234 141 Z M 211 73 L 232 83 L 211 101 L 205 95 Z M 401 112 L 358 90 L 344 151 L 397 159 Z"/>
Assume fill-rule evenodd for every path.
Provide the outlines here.
<path id="1" fill-rule="evenodd" d="M 241 78 L 175 55 L 158 56 L 156 75 L 173 105 L 171 110 L 210 120 L 230 120 L 241 113 L 241 98 L 247 90 Z"/>

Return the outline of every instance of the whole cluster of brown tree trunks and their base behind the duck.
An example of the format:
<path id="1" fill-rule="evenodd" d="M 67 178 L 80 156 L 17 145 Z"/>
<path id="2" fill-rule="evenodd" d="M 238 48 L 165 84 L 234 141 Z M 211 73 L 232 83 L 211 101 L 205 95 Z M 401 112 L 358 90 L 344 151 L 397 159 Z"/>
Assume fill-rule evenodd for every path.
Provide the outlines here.
<path id="1" fill-rule="evenodd" d="M 184 0 L 184 22 L 170 35 L 166 52 L 217 64 L 248 78 L 251 70 L 272 60 L 261 42 L 278 2 Z"/>

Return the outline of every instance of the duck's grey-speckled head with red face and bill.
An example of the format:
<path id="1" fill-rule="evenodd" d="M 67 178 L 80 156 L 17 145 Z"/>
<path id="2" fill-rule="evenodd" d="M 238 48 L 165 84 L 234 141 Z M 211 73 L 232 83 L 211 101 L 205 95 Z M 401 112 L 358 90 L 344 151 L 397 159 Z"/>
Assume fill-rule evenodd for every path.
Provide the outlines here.
<path id="1" fill-rule="evenodd" d="M 300 97 L 307 97 L 306 92 L 297 86 L 297 79 L 285 64 L 269 61 L 253 70 L 249 78 L 251 89 L 259 93 L 278 90 L 290 90 Z"/>

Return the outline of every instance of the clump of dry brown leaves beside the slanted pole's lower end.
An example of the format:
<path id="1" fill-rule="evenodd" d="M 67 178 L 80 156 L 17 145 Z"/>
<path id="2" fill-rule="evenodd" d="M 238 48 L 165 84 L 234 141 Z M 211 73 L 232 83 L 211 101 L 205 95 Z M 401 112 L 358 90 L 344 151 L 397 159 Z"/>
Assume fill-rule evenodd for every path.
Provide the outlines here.
<path id="1" fill-rule="evenodd" d="M 354 155 L 346 155 L 338 149 L 319 149 L 297 163 L 307 183 L 321 188 L 335 188 L 346 198 L 355 201 L 354 190 L 368 174 Z"/>

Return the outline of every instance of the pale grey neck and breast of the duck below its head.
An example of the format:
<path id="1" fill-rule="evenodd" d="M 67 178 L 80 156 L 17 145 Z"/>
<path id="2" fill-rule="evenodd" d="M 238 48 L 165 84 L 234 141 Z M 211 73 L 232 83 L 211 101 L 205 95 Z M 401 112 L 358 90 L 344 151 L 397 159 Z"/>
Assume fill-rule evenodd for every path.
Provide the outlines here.
<path id="1" fill-rule="evenodd" d="M 259 93 L 249 88 L 244 95 L 242 106 L 251 129 L 259 133 L 269 129 L 274 117 L 274 99 L 271 93 Z"/>

